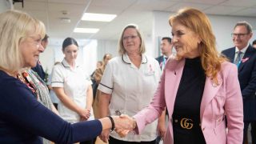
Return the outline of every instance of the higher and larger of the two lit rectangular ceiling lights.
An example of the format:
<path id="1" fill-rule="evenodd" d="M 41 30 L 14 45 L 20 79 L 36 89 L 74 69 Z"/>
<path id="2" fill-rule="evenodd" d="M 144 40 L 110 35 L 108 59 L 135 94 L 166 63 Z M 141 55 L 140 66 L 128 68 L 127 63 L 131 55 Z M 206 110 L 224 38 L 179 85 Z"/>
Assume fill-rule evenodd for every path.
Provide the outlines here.
<path id="1" fill-rule="evenodd" d="M 116 14 L 94 14 L 94 13 L 84 13 L 82 16 L 82 21 L 99 21 L 99 22 L 110 22 L 117 15 Z"/>

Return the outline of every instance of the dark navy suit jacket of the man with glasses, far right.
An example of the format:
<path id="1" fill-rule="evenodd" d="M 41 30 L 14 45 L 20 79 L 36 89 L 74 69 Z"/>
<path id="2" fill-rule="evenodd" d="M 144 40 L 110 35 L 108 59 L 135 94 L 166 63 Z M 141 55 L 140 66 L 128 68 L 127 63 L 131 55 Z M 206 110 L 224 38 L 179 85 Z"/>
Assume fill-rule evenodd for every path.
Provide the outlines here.
<path id="1" fill-rule="evenodd" d="M 234 62 L 235 47 L 222 51 Z M 256 120 L 256 50 L 248 46 L 240 65 L 238 66 L 238 80 L 242 91 L 244 120 Z"/>

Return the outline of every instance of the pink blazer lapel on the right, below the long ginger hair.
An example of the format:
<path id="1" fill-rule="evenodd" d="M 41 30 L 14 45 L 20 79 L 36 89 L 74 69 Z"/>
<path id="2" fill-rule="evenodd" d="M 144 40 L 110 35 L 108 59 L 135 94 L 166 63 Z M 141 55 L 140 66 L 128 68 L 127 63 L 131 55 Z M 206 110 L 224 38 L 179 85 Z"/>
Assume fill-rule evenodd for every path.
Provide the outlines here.
<path id="1" fill-rule="evenodd" d="M 202 94 L 202 102 L 200 106 L 200 118 L 202 121 L 202 116 L 204 114 L 204 110 L 206 110 L 206 106 L 209 105 L 210 101 L 217 94 L 220 86 L 222 86 L 222 78 L 218 74 L 218 85 L 214 84 L 210 77 L 206 77 L 206 84 Z"/>

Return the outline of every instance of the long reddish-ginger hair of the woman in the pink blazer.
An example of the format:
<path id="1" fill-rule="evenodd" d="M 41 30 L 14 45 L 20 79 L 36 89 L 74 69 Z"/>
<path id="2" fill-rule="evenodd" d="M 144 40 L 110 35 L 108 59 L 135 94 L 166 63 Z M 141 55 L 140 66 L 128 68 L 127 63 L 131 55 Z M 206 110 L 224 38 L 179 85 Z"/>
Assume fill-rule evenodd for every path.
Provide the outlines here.
<path id="1" fill-rule="evenodd" d="M 170 26 L 174 22 L 178 22 L 198 34 L 202 40 L 198 44 L 202 68 L 205 70 L 206 76 L 211 77 L 213 82 L 218 85 L 218 72 L 221 70 L 221 63 L 225 62 L 226 58 L 218 53 L 216 38 L 206 14 L 194 8 L 184 8 L 178 10 L 178 14 L 170 16 Z"/>

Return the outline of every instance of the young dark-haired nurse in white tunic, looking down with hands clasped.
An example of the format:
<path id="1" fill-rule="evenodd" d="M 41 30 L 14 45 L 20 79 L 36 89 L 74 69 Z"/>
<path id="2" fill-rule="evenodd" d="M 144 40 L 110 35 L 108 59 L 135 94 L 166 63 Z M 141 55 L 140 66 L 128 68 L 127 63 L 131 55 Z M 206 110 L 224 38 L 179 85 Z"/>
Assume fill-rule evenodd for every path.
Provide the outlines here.
<path id="1" fill-rule="evenodd" d="M 66 38 L 62 44 L 62 52 L 64 59 L 54 66 L 51 82 L 61 101 L 58 104 L 59 114 L 70 123 L 93 120 L 92 82 L 84 67 L 76 62 L 78 42 L 74 38 Z"/>

